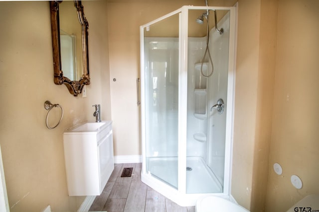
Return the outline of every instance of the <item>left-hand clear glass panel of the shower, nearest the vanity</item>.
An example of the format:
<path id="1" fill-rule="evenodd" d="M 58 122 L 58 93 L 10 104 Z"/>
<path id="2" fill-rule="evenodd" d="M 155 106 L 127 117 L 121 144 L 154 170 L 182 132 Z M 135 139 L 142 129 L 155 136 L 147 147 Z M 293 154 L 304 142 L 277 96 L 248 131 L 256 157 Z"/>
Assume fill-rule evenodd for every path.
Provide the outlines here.
<path id="1" fill-rule="evenodd" d="M 146 171 L 178 187 L 179 15 L 144 29 Z M 142 82 L 143 83 L 143 82 Z"/>

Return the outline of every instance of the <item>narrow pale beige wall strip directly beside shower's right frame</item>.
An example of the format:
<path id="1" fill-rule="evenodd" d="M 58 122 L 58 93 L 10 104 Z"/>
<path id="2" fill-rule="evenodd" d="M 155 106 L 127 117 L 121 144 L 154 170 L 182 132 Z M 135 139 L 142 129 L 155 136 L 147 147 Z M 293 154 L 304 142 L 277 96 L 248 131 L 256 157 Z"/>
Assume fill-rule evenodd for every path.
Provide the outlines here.
<path id="1" fill-rule="evenodd" d="M 247 209 L 250 209 L 251 203 L 256 136 L 260 4 L 260 0 L 240 0 L 238 5 L 231 193 Z"/>

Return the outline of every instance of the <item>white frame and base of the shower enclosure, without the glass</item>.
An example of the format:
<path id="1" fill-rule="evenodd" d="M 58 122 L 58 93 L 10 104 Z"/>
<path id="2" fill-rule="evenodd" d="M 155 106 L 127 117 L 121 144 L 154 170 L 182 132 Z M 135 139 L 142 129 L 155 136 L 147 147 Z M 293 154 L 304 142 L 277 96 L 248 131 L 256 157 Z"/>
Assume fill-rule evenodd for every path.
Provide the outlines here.
<path id="1" fill-rule="evenodd" d="M 227 84 L 227 110 L 226 110 L 226 138 L 225 138 L 225 165 L 223 193 L 187 194 L 186 193 L 186 130 L 187 130 L 187 50 L 188 50 L 188 10 L 190 9 L 216 9 L 230 11 L 229 25 L 229 55 L 228 55 L 228 84 Z M 144 54 L 144 28 L 179 13 L 179 74 L 178 74 L 178 189 L 175 189 L 161 180 L 147 173 L 146 170 L 146 121 L 145 121 L 145 54 Z M 216 195 L 235 202 L 231 196 L 231 167 L 233 152 L 233 119 L 235 97 L 235 62 L 237 38 L 237 3 L 232 7 L 221 6 L 182 6 L 156 20 L 140 26 L 141 48 L 141 138 L 142 138 L 142 171 L 141 180 L 160 194 L 180 206 L 195 206 L 197 199 Z"/>

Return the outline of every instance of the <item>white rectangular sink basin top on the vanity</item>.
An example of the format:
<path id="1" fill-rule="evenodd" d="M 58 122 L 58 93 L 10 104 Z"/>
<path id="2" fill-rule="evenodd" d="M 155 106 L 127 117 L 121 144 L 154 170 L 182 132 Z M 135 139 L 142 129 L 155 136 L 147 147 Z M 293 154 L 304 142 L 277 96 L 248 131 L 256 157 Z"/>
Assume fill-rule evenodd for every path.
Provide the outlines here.
<path id="1" fill-rule="evenodd" d="M 104 130 L 105 127 L 109 126 L 112 122 L 111 121 L 103 121 L 103 122 L 88 122 L 81 124 L 79 126 L 70 128 L 66 130 L 64 133 L 98 133 Z"/>

